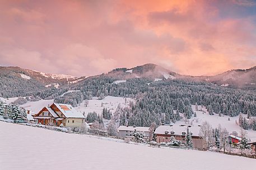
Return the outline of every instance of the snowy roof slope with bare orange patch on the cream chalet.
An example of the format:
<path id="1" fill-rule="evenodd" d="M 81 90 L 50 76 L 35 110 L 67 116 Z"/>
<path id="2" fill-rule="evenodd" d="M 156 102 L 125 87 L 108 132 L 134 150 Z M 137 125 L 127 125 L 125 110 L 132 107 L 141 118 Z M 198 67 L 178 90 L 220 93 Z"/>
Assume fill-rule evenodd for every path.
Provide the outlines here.
<path id="1" fill-rule="evenodd" d="M 66 116 L 66 118 L 85 118 L 82 113 L 78 112 L 69 104 L 54 103 L 55 106 Z"/>

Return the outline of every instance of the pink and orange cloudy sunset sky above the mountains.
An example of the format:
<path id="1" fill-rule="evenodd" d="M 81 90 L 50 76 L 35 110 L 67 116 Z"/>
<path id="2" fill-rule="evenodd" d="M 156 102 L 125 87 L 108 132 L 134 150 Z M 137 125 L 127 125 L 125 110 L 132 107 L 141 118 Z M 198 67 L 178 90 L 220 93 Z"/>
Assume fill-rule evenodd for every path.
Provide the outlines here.
<path id="1" fill-rule="evenodd" d="M 185 75 L 256 65 L 256 1 L 0 0 L 0 65 L 90 76 L 153 63 Z"/>

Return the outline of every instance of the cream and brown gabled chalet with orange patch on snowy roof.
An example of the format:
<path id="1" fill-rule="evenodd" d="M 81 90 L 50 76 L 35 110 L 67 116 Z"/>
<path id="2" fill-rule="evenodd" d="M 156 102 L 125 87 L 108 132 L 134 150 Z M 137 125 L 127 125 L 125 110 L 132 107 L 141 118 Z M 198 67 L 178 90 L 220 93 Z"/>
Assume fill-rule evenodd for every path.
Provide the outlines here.
<path id="1" fill-rule="evenodd" d="M 57 103 L 45 106 L 38 114 L 34 115 L 34 119 L 44 125 L 54 124 L 59 126 L 63 124 L 64 127 L 71 128 L 81 127 L 82 123 L 85 122 L 85 116 L 76 111 L 71 105 Z"/>

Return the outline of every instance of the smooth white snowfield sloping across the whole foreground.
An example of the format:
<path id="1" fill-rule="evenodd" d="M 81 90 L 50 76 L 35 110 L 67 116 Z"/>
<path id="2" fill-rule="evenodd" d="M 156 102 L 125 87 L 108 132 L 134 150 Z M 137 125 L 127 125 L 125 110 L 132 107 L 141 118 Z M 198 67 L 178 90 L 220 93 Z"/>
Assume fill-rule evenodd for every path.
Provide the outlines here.
<path id="1" fill-rule="evenodd" d="M 253 169 L 256 160 L 213 152 L 151 148 L 0 122 L 0 169 Z"/>

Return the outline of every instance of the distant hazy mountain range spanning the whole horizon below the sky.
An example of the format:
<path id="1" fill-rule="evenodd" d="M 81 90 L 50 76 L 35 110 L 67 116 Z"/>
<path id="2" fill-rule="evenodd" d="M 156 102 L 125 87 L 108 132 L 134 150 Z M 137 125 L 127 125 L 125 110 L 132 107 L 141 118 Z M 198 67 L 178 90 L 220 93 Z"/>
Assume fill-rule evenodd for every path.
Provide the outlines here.
<path id="1" fill-rule="evenodd" d="M 115 84 L 134 78 L 149 78 L 152 81 L 178 79 L 189 81 L 211 82 L 219 86 L 256 90 L 256 66 L 250 69 L 237 69 L 223 72 L 215 76 L 187 76 L 165 69 L 155 64 L 145 64 L 132 68 L 118 68 L 107 74 L 91 76 L 111 77 Z M 77 90 L 79 86 L 86 86 L 87 76 L 74 77 L 63 74 L 48 74 L 40 71 L 22 69 L 20 67 L 0 67 L 0 96 L 5 98 L 26 95 L 40 95 L 43 98 L 54 98 L 66 90 Z M 93 81 L 93 80 L 92 80 Z M 96 83 L 96 82 L 95 82 Z M 75 86 L 69 87 L 74 84 Z M 96 85 L 96 84 L 95 84 Z M 50 91 L 49 89 L 52 89 Z M 57 90 L 54 90 L 57 89 Z M 42 94 L 44 90 L 47 95 Z M 41 93 L 41 94 L 38 94 Z M 54 95 L 52 95 L 54 94 Z"/>

